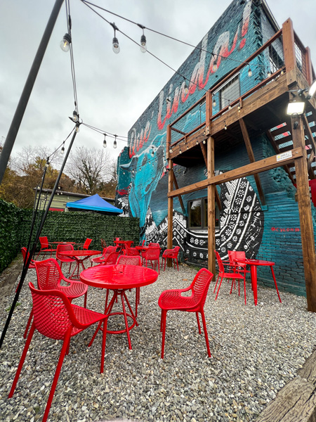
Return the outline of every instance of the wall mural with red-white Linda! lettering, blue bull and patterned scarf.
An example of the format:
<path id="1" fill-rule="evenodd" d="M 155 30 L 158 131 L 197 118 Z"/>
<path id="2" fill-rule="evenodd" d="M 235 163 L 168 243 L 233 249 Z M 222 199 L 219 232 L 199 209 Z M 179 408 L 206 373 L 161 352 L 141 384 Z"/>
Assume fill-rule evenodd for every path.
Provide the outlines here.
<path id="1" fill-rule="evenodd" d="M 252 43 L 247 44 L 246 42 L 247 37 L 253 37 L 253 34 L 250 34 L 249 23 L 252 9 L 255 6 L 252 1 L 247 1 L 245 4 L 240 3 L 240 1 L 233 1 L 230 4 L 212 30 L 199 43 L 199 49 L 192 51 L 189 58 L 180 66 L 179 74 L 185 75 L 187 81 L 190 81 L 188 92 L 185 93 L 183 77 L 178 74 L 173 75 L 129 132 L 129 148 L 124 148 L 118 161 L 117 204 L 124 210 L 124 215 L 139 217 L 141 239 L 146 238 L 147 241 L 166 245 L 167 212 L 163 219 L 155 222 L 150 208 L 152 193 L 162 177 L 166 175 L 168 164 L 166 160 L 166 125 L 201 98 L 206 87 L 211 87 L 232 68 L 235 68 L 236 62 L 225 60 L 225 58 L 243 60 L 253 52 L 251 49 L 255 49 Z M 214 64 L 216 68 L 214 68 Z M 192 127 L 196 127 L 204 120 L 204 110 L 192 112 L 187 115 L 182 127 L 178 127 L 178 129 L 189 132 Z M 231 189 L 232 183 L 229 186 Z M 235 189 L 242 191 L 243 186 L 239 184 L 235 186 Z M 246 191 L 250 191 L 250 186 Z M 249 198 L 249 195 L 246 198 Z M 246 198 L 242 199 L 241 207 L 248 205 Z M 238 200 L 239 196 L 236 196 L 235 200 L 228 205 L 235 206 Z M 166 192 L 162 192 L 162 201 L 167 201 Z M 260 207 L 260 205 L 258 206 Z M 253 216 L 254 207 L 254 203 L 249 204 L 250 211 L 244 210 L 244 215 Z M 220 245 L 223 244 L 222 248 L 229 248 L 229 245 L 236 244 L 234 239 L 237 235 L 237 228 L 234 229 L 235 233 L 232 236 L 229 233 L 234 231 L 230 226 L 238 221 L 240 227 L 243 223 L 245 225 L 241 232 L 242 245 L 239 247 L 252 245 L 254 242 L 249 241 L 248 232 L 253 217 L 249 217 L 246 221 L 240 217 L 239 221 L 232 209 L 227 207 L 227 210 L 229 211 L 226 212 L 226 215 L 223 214 L 221 217 L 223 229 L 216 234 L 216 241 L 218 238 L 222 239 L 220 241 Z M 258 233 L 251 236 L 260 238 Z M 186 255 L 199 257 L 202 260 L 206 259 L 207 234 L 202 232 L 192 234 L 191 231 L 188 231 L 186 216 L 178 210 L 173 213 L 173 238 L 173 244 L 179 245 Z"/>

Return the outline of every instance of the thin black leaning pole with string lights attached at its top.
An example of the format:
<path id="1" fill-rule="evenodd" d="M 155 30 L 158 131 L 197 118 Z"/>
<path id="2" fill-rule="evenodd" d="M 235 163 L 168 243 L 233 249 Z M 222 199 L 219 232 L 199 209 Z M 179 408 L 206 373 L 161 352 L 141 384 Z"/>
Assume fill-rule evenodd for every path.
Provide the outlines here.
<path id="1" fill-rule="evenodd" d="M 79 127 L 79 123 L 76 124 L 76 127 Z M 51 207 L 51 203 L 53 201 L 53 197 L 55 195 L 55 191 L 56 191 L 57 186 L 59 184 L 60 177 L 62 176 L 62 171 L 64 170 L 65 164 L 67 162 L 68 155 L 70 153 L 70 150 L 72 149 L 72 144 L 74 143 L 74 138 L 76 137 L 76 135 L 77 135 L 77 131 L 75 130 L 74 131 L 74 134 L 72 135 L 72 140 L 70 141 L 70 145 L 68 147 L 68 150 L 67 150 L 67 153 L 65 155 L 65 158 L 64 158 L 64 160 L 62 162 L 62 166 L 60 167 L 60 170 L 59 170 L 59 173 L 58 173 L 58 177 L 57 177 L 57 179 L 55 181 L 55 186 L 53 187 L 53 191 L 51 192 L 51 198 L 49 198 L 48 204 L 46 206 L 46 210 L 44 212 L 43 217 L 41 218 L 41 224 L 39 224 L 39 229 L 37 230 L 37 235 L 35 236 L 35 240 L 34 240 L 34 243 L 33 243 L 33 246 L 32 246 L 32 250 L 29 253 L 29 256 L 27 258 L 27 262 L 23 264 L 23 269 L 22 269 L 22 275 L 21 275 L 21 278 L 20 278 L 20 282 L 19 282 L 18 288 L 17 288 L 17 290 L 15 292 L 15 297 L 13 299 L 13 303 L 12 303 L 11 308 L 10 308 L 10 311 L 8 313 L 8 318 L 6 319 L 6 324 L 4 325 L 4 331 L 2 331 L 2 334 L 1 334 L 1 338 L 0 338 L 0 349 L 1 349 L 2 344 L 4 343 L 4 338 L 6 336 L 6 331 L 8 330 L 8 326 L 10 324 L 11 316 L 12 316 L 12 314 L 14 312 L 15 305 L 18 302 L 20 291 L 21 291 L 21 288 L 23 286 L 23 283 L 24 283 L 24 280 L 25 280 L 25 276 L 27 274 L 27 269 L 29 268 L 29 263 L 31 262 L 32 256 L 34 255 L 35 249 L 37 247 L 37 242 L 39 241 L 39 235 L 41 234 L 41 229 L 43 229 L 44 222 L 45 222 L 46 217 L 47 217 L 47 214 L 48 214 L 48 210 Z"/>

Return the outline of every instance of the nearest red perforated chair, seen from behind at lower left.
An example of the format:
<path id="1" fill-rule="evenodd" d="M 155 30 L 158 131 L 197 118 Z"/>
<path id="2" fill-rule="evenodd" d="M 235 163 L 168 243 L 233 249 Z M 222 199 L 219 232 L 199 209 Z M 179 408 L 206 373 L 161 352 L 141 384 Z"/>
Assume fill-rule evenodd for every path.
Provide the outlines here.
<path id="1" fill-rule="evenodd" d="M 55 388 L 58 383 L 62 362 L 65 354 L 68 354 L 69 352 L 70 339 L 74 335 L 79 334 L 81 331 L 84 331 L 86 328 L 96 323 L 103 323 L 100 366 L 100 372 L 103 373 L 108 316 L 90 311 L 77 305 L 72 305 L 66 295 L 58 290 L 37 290 L 34 288 L 32 283 L 29 283 L 29 288 L 32 293 L 34 321 L 29 331 L 29 335 L 27 336 L 27 341 L 25 343 L 20 363 L 15 373 L 15 378 L 8 397 L 10 398 L 13 396 L 34 331 L 37 330 L 39 333 L 48 338 L 53 338 L 54 340 L 62 340 L 62 349 L 60 351 L 55 376 L 51 385 L 51 392 L 49 393 L 43 416 L 43 422 L 46 422 L 49 410 L 51 409 L 51 402 L 53 400 Z"/>

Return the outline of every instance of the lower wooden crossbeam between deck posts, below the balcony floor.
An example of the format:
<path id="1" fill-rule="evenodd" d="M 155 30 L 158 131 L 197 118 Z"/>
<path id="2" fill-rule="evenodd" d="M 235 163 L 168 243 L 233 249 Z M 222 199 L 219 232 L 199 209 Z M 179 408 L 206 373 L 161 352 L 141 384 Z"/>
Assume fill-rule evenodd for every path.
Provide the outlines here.
<path id="1" fill-rule="evenodd" d="M 272 157 L 264 158 L 256 162 L 251 162 L 250 164 L 239 167 L 235 170 L 230 170 L 228 172 L 218 174 L 218 176 L 213 176 L 210 179 L 198 181 L 195 184 L 185 186 L 176 191 L 168 193 L 168 196 L 178 196 L 183 195 L 184 193 L 191 193 L 195 191 L 200 191 L 201 189 L 206 188 L 209 184 L 221 184 L 226 181 L 239 179 L 240 177 L 251 176 L 251 174 L 266 172 L 267 170 L 274 169 L 275 167 L 280 167 L 282 165 L 287 165 L 288 163 L 293 162 L 294 158 L 299 158 L 303 156 L 303 149 L 301 147 L 294 148 L 292 150 L 291 157 L 284 158 L 284 160 L 278 161 L 277 155 L 272 155 Z"/>

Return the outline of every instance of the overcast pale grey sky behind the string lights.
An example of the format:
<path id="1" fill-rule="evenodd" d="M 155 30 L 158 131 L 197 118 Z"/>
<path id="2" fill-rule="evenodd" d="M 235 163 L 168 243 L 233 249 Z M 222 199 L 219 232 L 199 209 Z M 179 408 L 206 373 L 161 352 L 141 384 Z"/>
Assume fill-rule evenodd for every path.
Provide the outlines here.
<path id="1" fill-rule="evenodd" d="M 197 45 L 230 0 L 91 0 L 171 37 Z M 55 0 L 0 1 L 0 141 L 4 141 L 34 60 Z M 287 18 L 305 46 L 310 46 L 316 66 L 315 0 L 268 1 L 281 26 Z M 298 13 L 299 11 L 299 13 Z M 72 45 L 77 81 L 79 113 L 86 124 L 106 132 L 127 136 L 143 110 L 173 75 L 172 70 L 148 53 L 141 53 L 132 41 L 117 34 L 120 53 L 112 51 L 113 30 L 80 0 L 70 1 Z M 101 12 L 100 12 L 101 13 Z M 103 13 L 119 30 L 139 42 L 142 30 L 117 16 Z M 12 155 L 23 146 L 57 148 L 73 127 L 68 119 L 74 110 L 70 53 L 60 49 L 67 32 L 63 4 L 29 99 Z M 178 69 L 191 53 L 185 46 L 145 31 L 147 47 L 157 57 Z M 80 128 L 74 146 L 102 148 L 103 135 Z M 116 158 L 126 143 L 108 150 Z"/>

